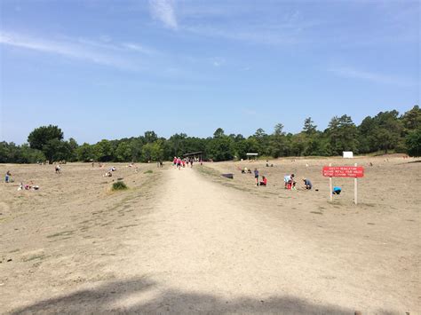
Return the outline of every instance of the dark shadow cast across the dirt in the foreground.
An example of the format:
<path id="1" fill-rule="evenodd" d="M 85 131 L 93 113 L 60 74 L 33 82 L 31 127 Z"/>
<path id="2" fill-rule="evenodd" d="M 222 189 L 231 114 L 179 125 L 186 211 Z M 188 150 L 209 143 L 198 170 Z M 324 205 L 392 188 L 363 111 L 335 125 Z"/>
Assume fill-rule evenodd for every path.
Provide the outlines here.
<path id="1" fill-rule="evenodd" d="M 127 305 L 127 306 L 121 306 Z M 225 300 L 216 295 L 160 289 L 147 278 L 115 281 L 76 291 L 12 311 L 26 313 L 305 313 L 353 314 L 334 305 L 307 302 L 293 296 Z"/>

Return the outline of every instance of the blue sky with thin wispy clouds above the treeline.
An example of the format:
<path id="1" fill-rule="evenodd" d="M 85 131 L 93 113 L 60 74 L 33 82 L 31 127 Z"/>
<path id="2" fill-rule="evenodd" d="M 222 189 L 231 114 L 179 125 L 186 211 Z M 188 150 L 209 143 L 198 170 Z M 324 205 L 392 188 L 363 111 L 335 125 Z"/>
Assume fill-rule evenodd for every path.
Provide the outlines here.
<path id="1" fill-rule="evenodd" d="M 1 0 L 0 141 L 324 130 L 419 104 L 420 2 Z"/>

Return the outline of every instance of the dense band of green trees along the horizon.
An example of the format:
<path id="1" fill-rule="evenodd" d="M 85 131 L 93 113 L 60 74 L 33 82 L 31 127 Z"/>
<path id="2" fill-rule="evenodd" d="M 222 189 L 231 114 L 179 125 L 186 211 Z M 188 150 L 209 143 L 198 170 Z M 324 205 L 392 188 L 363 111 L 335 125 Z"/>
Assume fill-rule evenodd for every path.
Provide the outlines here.
<path id="1" fill-rule="evenodd" d="M 421 109 L 414 106 L 399 114 L 393 110 L 366 117 L 359 126 L 350 116 L 335 116 L 326 130 L 318 130 L 311 117 L 304 121 L 297 134 L 286 133 L 282 123 L 271 133 L 258 129 L 244 138 L 241 134 L 226 135 L 218 128 L 210 138 L 188 137 L 184 133 L 160 138 L 154 131 L 143 136 L 118 140 L 101 140 L 94 145 L 78 145 L 74 138 L 64 140 L 58 126 L 42 126 L 28 135 L 28 144 L 0 142 L 1 163 L 33 163 L 37 161 L 159 161 L 174 156 L 203 152 L 204 160 L 242 159 L 246 153 L 278 158 L 282 156 L 333 156 L 343 151 L 354 154 L 407 153 L 421 155 Z"/>

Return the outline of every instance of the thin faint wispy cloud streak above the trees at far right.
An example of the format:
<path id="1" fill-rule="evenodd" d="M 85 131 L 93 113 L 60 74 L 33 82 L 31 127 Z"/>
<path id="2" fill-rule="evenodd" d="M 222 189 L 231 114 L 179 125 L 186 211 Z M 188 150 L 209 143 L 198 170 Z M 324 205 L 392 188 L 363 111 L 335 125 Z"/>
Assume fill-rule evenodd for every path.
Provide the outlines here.
<path id="1" fill-rule="evenodd" d="M 368 71 L 361 71 L 358 69 L 354 69 L 352 67 L 330 67 L 328 69 L 329 72 L 346 77 L 346 78 L 353 78 L 353 79 L 360 79 L 365 81 L 370 81 L 373 83 L 382 83 L 382 84 L 391 84 L 397 86 L 406 86 L 406 87 L 413 87 L 416 86 L 416 81 L 408 80 L 405 78 L 392 76 L 392 75 L 383 75 L 377 74 Z"/>

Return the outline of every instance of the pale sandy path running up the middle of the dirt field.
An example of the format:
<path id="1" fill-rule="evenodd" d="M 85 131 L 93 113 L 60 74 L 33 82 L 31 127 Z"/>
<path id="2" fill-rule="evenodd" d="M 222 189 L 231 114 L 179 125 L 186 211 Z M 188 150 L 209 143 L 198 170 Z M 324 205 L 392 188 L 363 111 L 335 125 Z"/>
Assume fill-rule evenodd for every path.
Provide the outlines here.
<path id="1" fill-rule="evenodd" d="M 154 210 L 102 270 L 118 280 L 22 311 L 408 311 L 401 292 L 376 287 L 382 280 L 375 266 L 367 272 L 349 265 L 330 244 L 262 214 L 247 194 L 194 169 L 163 176 Z"/>

